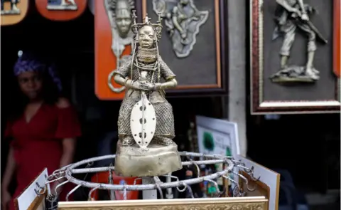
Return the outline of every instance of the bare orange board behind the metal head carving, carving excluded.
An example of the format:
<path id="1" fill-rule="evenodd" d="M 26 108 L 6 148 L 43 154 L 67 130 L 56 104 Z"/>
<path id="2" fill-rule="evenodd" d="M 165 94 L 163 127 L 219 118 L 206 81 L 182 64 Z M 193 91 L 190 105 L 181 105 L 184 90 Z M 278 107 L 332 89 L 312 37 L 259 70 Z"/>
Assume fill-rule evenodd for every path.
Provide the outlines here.
<path id="1" fill-rule="evenodd" d="M 108 75 L 116 69 L 116 57 L 112 52 L 112 29 L 103 0 L 94 2 L 94 56 L 95 56 L 95 93 L 100 100 L 121 100 L 124 91 L 114 93 L 108 85 Z M 122 56 L 131 54 L 131 46 L 126 46 Z M 121 87 L 112 80 L 115 88 Z"/>

